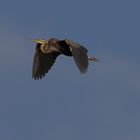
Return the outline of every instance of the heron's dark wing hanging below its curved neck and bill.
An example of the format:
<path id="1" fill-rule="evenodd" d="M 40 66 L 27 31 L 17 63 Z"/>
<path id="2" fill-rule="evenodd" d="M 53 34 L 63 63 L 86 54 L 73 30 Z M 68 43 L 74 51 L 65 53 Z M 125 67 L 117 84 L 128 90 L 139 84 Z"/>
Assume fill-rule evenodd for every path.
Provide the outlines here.
<path id="1" fill-rule="evenodd" d="M 39 80 L 44 77 L 51 69 L 59 54 L 56 52 L 43 53 L 40 49 L 36 49 L 33 60 L 32 78 Z"/>

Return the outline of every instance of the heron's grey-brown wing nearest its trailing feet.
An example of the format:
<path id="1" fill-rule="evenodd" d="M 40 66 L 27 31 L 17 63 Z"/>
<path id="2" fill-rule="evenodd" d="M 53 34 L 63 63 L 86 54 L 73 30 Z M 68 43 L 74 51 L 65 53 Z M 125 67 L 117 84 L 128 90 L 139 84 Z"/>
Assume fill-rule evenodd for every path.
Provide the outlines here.
<path id="1" fill-rule="evenodd" d="M 65 41 L 70 46 L 75 63 L 78 66 L 80 72 L 85 73 L 88 68 L 88 50 L 72 40 L 65 39 Z"/>

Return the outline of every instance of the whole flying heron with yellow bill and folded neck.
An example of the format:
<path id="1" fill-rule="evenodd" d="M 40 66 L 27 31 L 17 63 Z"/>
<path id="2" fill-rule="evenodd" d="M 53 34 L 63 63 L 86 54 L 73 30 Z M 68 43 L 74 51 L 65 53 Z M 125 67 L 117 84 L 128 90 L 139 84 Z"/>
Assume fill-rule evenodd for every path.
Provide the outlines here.
<path id="1" fill-rule="evenodd" d="M 32 68 L 32 78 L 35 80 L 42 79 L 61 54 L 69 57 L 73 56 L 81 73 L 87 71 L 89 60 L 98 61 L 96 57 L 87 55 L 87 48 L 69 39 L 50 38 L 48 40 L 33 39 L 32 41 L 36 43 Z"/>

